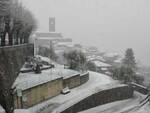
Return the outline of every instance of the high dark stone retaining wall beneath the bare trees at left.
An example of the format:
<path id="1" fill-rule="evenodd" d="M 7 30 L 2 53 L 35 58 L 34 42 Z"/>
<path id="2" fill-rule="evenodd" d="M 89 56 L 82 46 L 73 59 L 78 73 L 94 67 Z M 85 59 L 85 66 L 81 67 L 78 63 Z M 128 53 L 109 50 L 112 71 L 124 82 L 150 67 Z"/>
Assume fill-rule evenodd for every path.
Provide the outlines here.
<path id="1" fill-rule="evenodd" d="M 0 76 L 11 86 L 27 56 L 33 56 L 33 44 L 0 47 Z"/>

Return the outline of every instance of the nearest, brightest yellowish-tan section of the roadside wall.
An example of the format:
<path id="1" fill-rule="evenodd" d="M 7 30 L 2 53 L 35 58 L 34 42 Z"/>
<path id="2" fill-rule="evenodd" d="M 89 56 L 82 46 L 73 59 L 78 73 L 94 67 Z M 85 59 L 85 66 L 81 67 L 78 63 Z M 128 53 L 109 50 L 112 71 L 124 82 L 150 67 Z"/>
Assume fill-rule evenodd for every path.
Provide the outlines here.
<path id="1" fill-rule="evenodd" d="M 62 78 L 23 91 L 22 99 L 14 96 L 15 108 L 28 108 L 51 97 L 59 95 L 63 88 Z M 26 101 L 24 102 L 24 99 Z M 22 102 L 22 106 L 21 106 Z"/>

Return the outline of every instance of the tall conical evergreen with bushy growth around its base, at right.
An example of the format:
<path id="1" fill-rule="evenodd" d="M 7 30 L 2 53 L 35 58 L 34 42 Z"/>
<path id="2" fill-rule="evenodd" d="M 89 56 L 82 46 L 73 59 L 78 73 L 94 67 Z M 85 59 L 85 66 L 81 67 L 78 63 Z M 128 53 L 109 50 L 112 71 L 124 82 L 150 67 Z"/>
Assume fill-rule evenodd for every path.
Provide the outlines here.
<path id="1" fill-rule="evenodd" d="M 123 83 L 128 82 L 140 82 L 141 78 L 136 76 L 136 60 L 134 57 L 134 52 L 131 48 L 127 49 L 125 52 L 125 57 L 122 62 L 122 66 L 114 68 L 112 70 L 112 75 Z M 139 80 L 140 79 L 140 80 Z"/>

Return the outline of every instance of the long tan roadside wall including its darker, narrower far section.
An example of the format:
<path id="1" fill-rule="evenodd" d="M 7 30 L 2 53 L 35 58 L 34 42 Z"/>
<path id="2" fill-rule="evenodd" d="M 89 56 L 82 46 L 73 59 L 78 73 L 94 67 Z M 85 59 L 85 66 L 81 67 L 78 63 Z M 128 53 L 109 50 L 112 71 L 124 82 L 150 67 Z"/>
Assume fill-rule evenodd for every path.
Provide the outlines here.
<path id="1" fill-rule="evenodd" d="M 89 79 L 89 75 L 87 74 L 86 81 Z M 33 105 L 36 105 L 40 102 L 43 102 L 47 99 L 50 99 L 54 96 L 57 96 L 61 93 L 62 89 L 65 87 L 75 88 L 81 85 L 81 77 L 80 74 L 76 76 L 72 76 L 67 79 L 59 78 L 36 87 L 32 87 L 30 89 L 24 90 L 23 97 L 17 97 L 14 95 L 14 106 L 16 109 L 20 108 L 29 108 Z M 26 98 L 24 101 L 23 98 Z"/>

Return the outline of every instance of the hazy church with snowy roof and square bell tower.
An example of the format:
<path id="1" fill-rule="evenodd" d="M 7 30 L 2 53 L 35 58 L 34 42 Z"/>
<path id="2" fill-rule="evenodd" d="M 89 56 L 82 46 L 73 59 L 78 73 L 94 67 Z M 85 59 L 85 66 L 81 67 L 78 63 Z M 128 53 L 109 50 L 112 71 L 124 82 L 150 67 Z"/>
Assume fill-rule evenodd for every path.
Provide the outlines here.
<path id="1" fill-rule="evenodd" d="M 32 39 L 31 42 L 34 42 L 34 45 L 35 45 L 34 47 L 35 54 L 37 54 L 39 46 L 49 48 L 51 42 L 54 45 L 55 44 L 58 45 L 58 43 L 72 42 L 72 39 L 64 38 L 62 33 L 55 31 L 55 18 L 53 17 L 49 19 L 49 32 L 35 32 L 32 35 L 31 39 Z M 67 46 L 67 44 L 65 45 Z"/>

